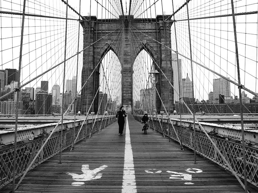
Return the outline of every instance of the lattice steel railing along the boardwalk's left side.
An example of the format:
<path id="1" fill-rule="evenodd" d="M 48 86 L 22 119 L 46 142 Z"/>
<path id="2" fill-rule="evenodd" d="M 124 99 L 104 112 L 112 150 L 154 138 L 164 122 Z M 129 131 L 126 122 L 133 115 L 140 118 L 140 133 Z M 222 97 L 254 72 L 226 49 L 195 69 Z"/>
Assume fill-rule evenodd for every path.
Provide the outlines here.
<path id="1" fill-rule="evenodd" d="M 76 140 L 76 143 L 88 137 L 90 133 L 95 133 L 101 129 L 104 129 L 108 125 L 112 124 L 114 121 L 115 118 L 114 116 L 112 116 L 110 119 L 109 117 L 105 118 L 102 124 L 101 120 L 99 121 L 100 123 L 98 123 L 97 121 L 95 124 L 94 122 L 87 123 L 87 127 L 86 125 L 84 125 L 81 129 L 81 132 Z M 66 148 L 72 146 L 80 127 L 80 125 L 75 127 L 75 135 L 73 127 L 66 128 L 63 130 L 62 150 L 65 150 Z M 32 141 L 26 140 L 26 142 L 23 141 L 20 142 L 19 145 L 17 145 L 15 178 L 21 176 L 21 174 L 23 174 L 26 171 L 27 167 L 30 165 L 38 150 L 41 148 L 41 146 L 48 138 L 48 135 L 49 134 L 45 134 L 44 136 L 40 136 L 39 139 Z M 38 166 L 42 162 L 48 160 L 49 158 L 53 157 L 54 155 L 60 152 L 60 135 L 60 131 L 57 131 L 55 134 L 51 136 L 48 143 L 44 146 L 43 151 L 38 156 L 37 160 L 34 162 L 32 168 Z M 13 146 L 0 149 L 0 189 L 13 180 L 13 149 Z"/>

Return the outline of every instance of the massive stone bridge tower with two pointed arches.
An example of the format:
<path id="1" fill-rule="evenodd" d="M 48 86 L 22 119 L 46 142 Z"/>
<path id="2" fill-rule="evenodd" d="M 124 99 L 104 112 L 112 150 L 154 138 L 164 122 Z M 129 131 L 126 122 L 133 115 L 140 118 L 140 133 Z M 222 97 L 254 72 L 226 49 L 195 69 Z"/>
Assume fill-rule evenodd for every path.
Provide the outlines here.
<path id="1" fill-rule="evenodd" d="M 165 16 L 166 18 L 167 16 Z M 88 17 L 85 17 L 89 19 Z M 129 19 L 129 20 L 128 20 Z M 125 107 L 126 112 L 130 114 L 133 107 L 133 64 L 137 55 L 143 49 L 146 50 L 153 60 L 161 67 L 162 71 L 166 74 L 167 78 L 173 83 L 173 70 L 172 69 L 172 55 L 171 50 L 161 46 L 161 44 L 146 37 L 152 37 L 153 39 L 171 46 L 171 25 L 172 22 L 163 22 L 163 16 L 157 15 L 157 18 L 145 18 L 135 19 L 133 16 L 130 18 L 125 16 L 125 20 L 122 16 L 120 19 L 97 19 L 95 16 L 91 16 L 91 22 L 81 21 L 83 27 L 83 48 L 86 48 L 83 52 L 83 68 L 82 68 L 82 86 L 88 79 L 90 73 L 95 69 L 96 65 L 101 61 L 102 57 L 107 51 L 112 50 L 117 55 L 121 67 L 122 67 L 122 106 Z M 130 22 L 133 21 L 133 22 Z M 147 24 L 148 23 L 148 24 Z M 121 27 L 122 25 L 122 27 Z M 165 25 L 165 27 L 164 27 Z M 120 27 L 120 28 L 119 28 Z M 115 29 L 119 28 L 113 33 Z M 142 34 L 142 33 L 146 34 Z M 118 35 L 122 31 L 122 38 Z M 107 35 L 110 33 L 109 35 Z M 107 35 L 106 37 L 104 37 Z M 101 39 L 104 37 L 103 39 Z M 132 43 L 134 39 L 134 43 Z M 118 51 L 118 45 L 122 45 L 122 49 Z M 137 53 L 132 53 L 137 51 Z M 155 67 L 158 71 L 159 68 Z M 167 79 L 162 73 L 158 75 L 158 83 L 156 85 L 157 90 L 163 100 L 163 103 L 168 111 L 173 110 L 173 89 L 171 86 L 167 86 Z M 89 79 L 89 83 L 86 84 L 82 90 L 82 114 L 86 113 L 86 104 L 88 98 L 88 107 L 93 100 L 93 97 L 97 93 L 99 86 L 99 67 L 97 67 L 95 73 Z M 166 88 L 166 89 L 163 89 Z M 168 96 L 172 97 L 168 98 Z M 92 110 L 96 113 L 98 110 L 98 93 L 94 100 Z M 159 100 L 158 94 L 156 94 L 157 111 L 164 110 Z M 92 111 L 91 110 L 91 111 Z"/>

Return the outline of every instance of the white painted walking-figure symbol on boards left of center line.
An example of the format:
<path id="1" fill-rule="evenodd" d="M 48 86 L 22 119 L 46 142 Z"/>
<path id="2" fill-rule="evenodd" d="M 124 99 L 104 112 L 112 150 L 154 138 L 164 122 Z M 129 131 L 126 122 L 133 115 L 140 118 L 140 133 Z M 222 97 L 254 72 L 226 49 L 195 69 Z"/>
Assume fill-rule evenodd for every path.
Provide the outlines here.
<path id="1" fill-rule="evenodd" d="M 75 181 L 82 181 L 82 182 L 73 182 L 72 183 L 73 186 L 81 186 L 84 184 L 83 181 L 96 180 L 101 178 L 102 174 L 100 173 L 98 174 L 98 172 L 105 169 L 106 167 L 107 167 L 106 165 L 103 165 L 94 170 L 90 170 L 89 165 L 86 164 L 81 166 L 81 171 L 83 172 L 83 174 L 74 174 L 70 172 L 67 172 L 67 174 L 73 176 L 73 180 Z"/>

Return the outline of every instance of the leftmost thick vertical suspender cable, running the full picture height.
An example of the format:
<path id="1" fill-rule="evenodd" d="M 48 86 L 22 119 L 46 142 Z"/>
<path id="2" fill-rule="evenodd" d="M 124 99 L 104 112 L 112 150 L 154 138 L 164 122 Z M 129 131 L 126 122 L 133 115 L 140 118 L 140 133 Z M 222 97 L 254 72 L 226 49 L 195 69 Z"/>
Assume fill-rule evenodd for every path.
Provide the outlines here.
<path id="1" fill-rule="evenodd" d="M 24 19 L 25 19 L 25 6 L 26 0 L 23 1 L 22 21 L 21 21 L 21 44 L 19 55 L 19 72 L 18 72 L 18 84 L 17 84 L 17 98 L 16 98 L 16 116 L 15 116 L 15 132 L 14 132 L 14 150 L 13 150 L 13 186 L 12 191 L 15 192 L 15 174 L 16 174 L 16 151 L 17 151 L 17 127 L 18 127 L 18 106 L 19 106 L 19 89 L 21 78 L 21 58 L 22 58 L 22 44 L 23 44 L 23 32 L 24 32 Z"/>

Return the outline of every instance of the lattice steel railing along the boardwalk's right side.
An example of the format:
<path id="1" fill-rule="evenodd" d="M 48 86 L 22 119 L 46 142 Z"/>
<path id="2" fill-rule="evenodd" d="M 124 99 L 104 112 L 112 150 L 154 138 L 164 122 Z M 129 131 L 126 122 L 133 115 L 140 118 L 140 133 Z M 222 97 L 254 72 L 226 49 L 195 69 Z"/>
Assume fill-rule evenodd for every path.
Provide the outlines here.
<path id="1" fill-rule="evenodd" d="M 141 117 L 139 116 L 135 116 L 135 118 L 138 121 L 141 120 Z M 162 120 L 160 119 L 160 121 Z M 169 136 L 171 139 L 178 142 L 172 125 L 167 121 L 167 119 L 163 119 L 163 122 L 160 124 L 158 120 L 151 119 L 150 128 L 155 129 L 165 136 Z M 182 145 L 193 150 L 193 129 L 186 127 L 182 127 L 181 129 L 179 125 L 174 125 L 174 128 L 177 132 L 177 135 L 179 136 Z M 221 154 L 226 158 L 227 162 L 236 172 L 236 174 L 244 179 L 242 144 L 216 138 L 213 136 L 210 137 L 216 144 L 217 148 L 220 150 Z M 246 145 L 245 150 L 247 163 L 247 181 L 258 187 L 258 149 Z M 200 130 L 196 131 L 196 152 L 230 171 L 228 164 L 224 162 L 224 160 L 218 154 L 208 137 Z"/>

